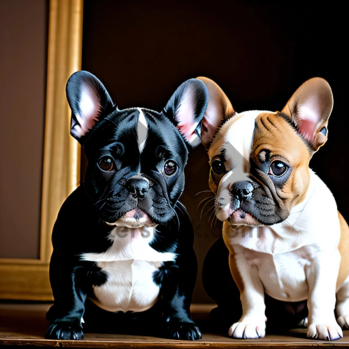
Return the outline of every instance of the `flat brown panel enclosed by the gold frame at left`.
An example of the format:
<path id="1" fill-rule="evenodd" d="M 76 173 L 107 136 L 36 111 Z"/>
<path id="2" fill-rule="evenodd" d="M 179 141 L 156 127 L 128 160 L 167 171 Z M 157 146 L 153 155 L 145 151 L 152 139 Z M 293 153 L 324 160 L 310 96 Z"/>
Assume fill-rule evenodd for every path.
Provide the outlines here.
<path id="1" fill-rule="evenodd" d="M 46 0 L 0 1 L 0 258 L 38 258 Z"/>

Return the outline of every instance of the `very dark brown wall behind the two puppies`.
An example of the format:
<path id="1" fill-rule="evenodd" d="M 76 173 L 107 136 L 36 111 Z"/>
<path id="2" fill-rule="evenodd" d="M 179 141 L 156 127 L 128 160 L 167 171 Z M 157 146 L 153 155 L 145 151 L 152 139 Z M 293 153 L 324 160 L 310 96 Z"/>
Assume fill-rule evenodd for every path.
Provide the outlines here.
<path id="1" fill-rule="evenodd" d="M 120 109 L 160 111 L 186 79 L 216 81 L 237 112 L 281 110 L 293 92 L 314 76 L 333 89 L 329 139 L 311 167 L 332 190 L 348 220 L 346 188 L 346 102 L 342 33 L 344 11 L 313 1 L 84 1 L 82 68 L 95 74 Z M 343 40 L 343 41 L 342 41 Z M 180 201 L 195 227 L 199 279 L 195 302 L 209 302 L 201 266 L 214 235 L 196 211 L 208 190 L 207 155 L 194 149 Z M 324 205 L 326 203 L 324 202 Z M 201 208 L 202 206 L 200 206 Z M 210 208 L 207 205 L 205 211 Z"/>

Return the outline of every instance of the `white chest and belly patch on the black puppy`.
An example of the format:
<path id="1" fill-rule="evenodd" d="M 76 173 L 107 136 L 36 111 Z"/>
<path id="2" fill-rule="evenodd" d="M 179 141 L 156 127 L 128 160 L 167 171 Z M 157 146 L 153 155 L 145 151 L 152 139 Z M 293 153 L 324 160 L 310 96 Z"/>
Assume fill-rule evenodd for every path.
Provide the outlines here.
<path id="1" fill-rule="evenodd" d="M 174 261 L 176 254 L 157 252 L 149 246 L 155 228 L 114 228 L 109 239 L 113 244 L 102 253 L 85 253 L 83 260 L 95 261 L 107 273 L 107 282 L 94 286 L 99 307 L 108 311 L 144 311 L 152 307 L 160 288 L 153 282 L 153 274 L 162 262 Z"/>

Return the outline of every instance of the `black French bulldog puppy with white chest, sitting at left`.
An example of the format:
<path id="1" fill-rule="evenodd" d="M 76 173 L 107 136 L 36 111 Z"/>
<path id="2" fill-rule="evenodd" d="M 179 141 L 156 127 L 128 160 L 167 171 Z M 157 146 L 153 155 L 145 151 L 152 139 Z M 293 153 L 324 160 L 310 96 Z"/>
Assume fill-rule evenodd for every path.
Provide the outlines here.
<path id="1" fill-rule="evenodd" d="M 85 332 L 200 339 L 194 233 L 178 199 L 188 149 L 200 143 L 205 84 L 187 80 L 161 113 L 119 110 L 85 71 L 66 93 L 88 168 L 54 224 L 45 338 L 81 339 L 84 322 Z"/>

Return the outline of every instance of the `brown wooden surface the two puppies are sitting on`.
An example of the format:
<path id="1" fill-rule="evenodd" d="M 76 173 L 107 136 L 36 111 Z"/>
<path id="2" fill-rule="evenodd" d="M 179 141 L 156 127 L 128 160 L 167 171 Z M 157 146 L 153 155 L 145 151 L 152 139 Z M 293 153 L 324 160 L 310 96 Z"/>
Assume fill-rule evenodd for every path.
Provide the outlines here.
<path id="1" fill-rule="evenodd" d="M 340 340 L 328 342 L 306 338 L 305 330 L 294 330 L 284 335 L 267 335 L 258 340 L 233 340 L 226 335 L 204 333 L 200 341 L 175 341 L 156 337 L 85 333 L 81 341 L 45 340 L 45 313 L 49 304 L 0 304 L 0 347 L 30 346 L 64 348 L 303 348 L 309 346 L 349 347 L 349 331 Z M 210 305 L 193 307 L 193 317 L 205 321 Z"/>

